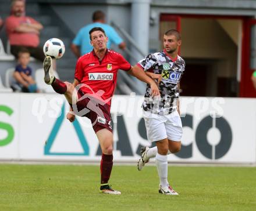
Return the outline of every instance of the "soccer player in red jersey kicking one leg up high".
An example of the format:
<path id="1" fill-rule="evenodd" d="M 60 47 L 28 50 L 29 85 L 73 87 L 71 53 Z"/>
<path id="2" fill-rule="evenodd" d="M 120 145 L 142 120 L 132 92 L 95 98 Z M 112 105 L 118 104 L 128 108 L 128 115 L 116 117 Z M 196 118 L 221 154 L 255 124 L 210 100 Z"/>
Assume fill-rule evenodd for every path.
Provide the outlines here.
<path id="1" fill-rule="evenodd" d="M 115 91 L 118 70 L 148 83 L 151 87 L 151 96 L 158 96 L 159 89 L 153 79 L 140 69 L 134 68 L 119 53 L 106 48 L 105 31 L 95 27 L 89 32 L 93 51 L 77 60 L 74 72 L 74 82 L 62 82 L 54 77 L 52 59 L 47 56 L 44 60 L 45 83 L 54 88 L 56 93 L 65 94 L 70 104 L 67 119 L 73 122 L 75 115 L 87 117 L 91 120 L 93 129 L 101 145 L 101 187 L 100 192 L 105 194 L 121 194 L 113 190 L 108 184 L 113 166 L 113 134 L 111 127 L 111 98 Z"/>

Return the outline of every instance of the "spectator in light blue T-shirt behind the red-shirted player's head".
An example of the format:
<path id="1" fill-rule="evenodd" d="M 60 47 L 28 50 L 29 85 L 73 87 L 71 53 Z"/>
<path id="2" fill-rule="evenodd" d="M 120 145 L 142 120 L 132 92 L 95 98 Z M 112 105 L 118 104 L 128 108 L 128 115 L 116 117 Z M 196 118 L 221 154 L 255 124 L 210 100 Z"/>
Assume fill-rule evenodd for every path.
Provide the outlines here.
<path id="1" fill-rule="evenodd" d="M 101 27 L 106 32 L 106 36 L 108 37 L 106 47 L 108 49 L 111 48 L 112 42 L 118 45 L 120 49 L 126 48 L 125 42 L 119 37 L 115 29 L 105 24 L 104 12 L 98 10 L 93 13 L 93 23 L 81 28 L 70 46 L 77 58 L 93 50 L 93 46 L 90 44 L 89 31 L 94 27 Z"/>

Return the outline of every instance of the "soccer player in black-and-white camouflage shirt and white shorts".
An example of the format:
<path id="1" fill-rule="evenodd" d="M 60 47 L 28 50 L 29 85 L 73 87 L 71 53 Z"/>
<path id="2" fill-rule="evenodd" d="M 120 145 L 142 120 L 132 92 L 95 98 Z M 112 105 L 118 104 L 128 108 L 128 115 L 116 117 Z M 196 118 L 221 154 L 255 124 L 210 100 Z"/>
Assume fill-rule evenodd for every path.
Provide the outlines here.
<path id="1" fill-rule="evenodd" d="M 141 170 L 150 158 L 155 157 L 160 179 L 159 193 L 178 195 L 168 183 L 167 155 L 180 151 L 182 139 L 182 121 L 179 111 L 179 83 L 185 70 L 185 62 L 178 55 L 182 44 L 177 30 L 166 31 L 163 35 L 164 49 L 149 54 L 138 62 L 136 68 L 143 68 L 146 74 L 158 83 L 161 97 L 152 98 L 147 85 L 143 103 L 143 115 L 150 142 L 157 147 L 146 147 L 138 161 Z"/>

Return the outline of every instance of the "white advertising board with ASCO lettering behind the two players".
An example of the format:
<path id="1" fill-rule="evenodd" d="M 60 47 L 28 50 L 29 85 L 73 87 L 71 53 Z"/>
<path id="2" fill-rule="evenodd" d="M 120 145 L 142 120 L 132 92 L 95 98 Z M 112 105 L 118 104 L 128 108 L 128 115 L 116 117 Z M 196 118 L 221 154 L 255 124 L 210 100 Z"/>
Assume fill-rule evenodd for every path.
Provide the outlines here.
<path id="1" fill-rule="evenodd" d="M 255 99 L 180 100 L 182 150 L 169 155 L 169 162 L 256 162 Z M 141 146 L 149 145 L 142 101 L 141 96 L 112 99 L 115 161 L 135 162 Z M 0 94 L 0 159 L 98 161 L 101 151 L 90 120 L 70 123 L 67 111 L 69 104 L 58 94 Z"/>

